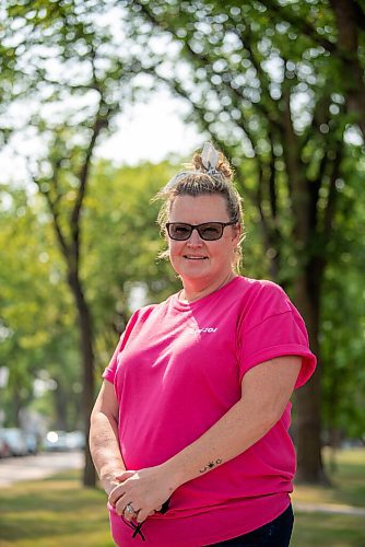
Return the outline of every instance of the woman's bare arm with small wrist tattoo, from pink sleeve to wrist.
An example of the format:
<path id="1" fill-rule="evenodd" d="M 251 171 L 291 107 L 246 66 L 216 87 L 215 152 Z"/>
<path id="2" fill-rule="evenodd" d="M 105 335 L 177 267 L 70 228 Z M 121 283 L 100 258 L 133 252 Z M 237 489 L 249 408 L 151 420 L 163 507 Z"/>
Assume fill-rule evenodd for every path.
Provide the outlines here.
<path id="1" fill-rule="evenodd" d="M 247 374 L 243 396 L 202 437 L 163 464 L 176 488 L 242 454 L 281 418 L 301 368 L 301 358 L 261 363 Z"/>

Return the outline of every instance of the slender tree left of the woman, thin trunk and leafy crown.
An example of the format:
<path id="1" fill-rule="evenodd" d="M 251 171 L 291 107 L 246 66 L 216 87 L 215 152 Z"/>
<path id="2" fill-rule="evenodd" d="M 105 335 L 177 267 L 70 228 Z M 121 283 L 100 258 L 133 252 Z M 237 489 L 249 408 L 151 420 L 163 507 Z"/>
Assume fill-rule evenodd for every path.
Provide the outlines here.
<path id="1" fill-rule="evenodd" d="M 46 146 L 44 154 L 28 160 L 31 177 L 48 205 L 78 312 L 86 437 L 95 389 L 92 315 L 81 275 L 82 211 L 97 142 L 131 98 L 132 79 L 140 70 L 103 25 L 105 9 L 95 0 L 10 2 L 8 8 L 9 32 L 15 31 L 23 46 L 17 69 L 28 75 L 27 92 L 33 90 L 38 98 L 31 124 Z M 84 484 L 95 484 L 87 443 Z"/>

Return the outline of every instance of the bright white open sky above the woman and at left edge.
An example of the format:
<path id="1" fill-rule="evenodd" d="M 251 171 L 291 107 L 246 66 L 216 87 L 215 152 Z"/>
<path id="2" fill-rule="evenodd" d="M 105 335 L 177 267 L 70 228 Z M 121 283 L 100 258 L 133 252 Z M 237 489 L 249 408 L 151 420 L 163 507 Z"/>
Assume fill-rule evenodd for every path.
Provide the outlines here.
<path id="1" fill-rule="evenodd" d="M 202 147 L 209 137 L 200 133 L 193 124 L 184 121 L 187 112 L 188 105 L 182 100 L 160 90 L 144 104 L 129 105 L 117 117 L 117 131 L 97 147 L 95 155 L 118 165 L 136 165 L 141 161 L 158 163 L 170 155 L 189 160 L 191 152 Z M 25 156 L 36 155 L 38 148 L 39 143 L 31 136 L 17 136 L 13 151 L 5 148 L 0 153 L 2 182 L 27 178 Z"/>

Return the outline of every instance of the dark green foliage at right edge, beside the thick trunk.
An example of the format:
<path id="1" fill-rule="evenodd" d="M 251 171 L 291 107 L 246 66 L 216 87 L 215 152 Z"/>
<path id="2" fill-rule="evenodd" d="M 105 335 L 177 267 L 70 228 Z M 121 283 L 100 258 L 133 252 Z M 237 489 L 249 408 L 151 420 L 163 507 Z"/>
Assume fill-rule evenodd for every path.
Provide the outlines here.
<path id="1" fill-rule="evenodd" d="M 334 450 L 343 438 L 364 438 L 364 281 L 365 248 L 358 238 L 364 223 L 364 154 L 352 153 L 358 170 L 348 173 L 351 184 L 340 188 L 335 237 L 323 290 L 321 348 L 323 362 L 323 423 L 327 441 Z"/>

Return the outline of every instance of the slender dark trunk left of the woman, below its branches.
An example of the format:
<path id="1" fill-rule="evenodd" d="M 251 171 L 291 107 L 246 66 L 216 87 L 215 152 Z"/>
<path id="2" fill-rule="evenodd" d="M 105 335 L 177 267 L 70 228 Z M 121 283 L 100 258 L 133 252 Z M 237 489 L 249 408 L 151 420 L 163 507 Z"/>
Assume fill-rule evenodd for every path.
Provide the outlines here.
<path id="1" fill-rule="evenodd" d="M 95 487 L 96 474 L 89 449 L 90 415 L 93 409 L 95 393 L 92 319 L 78 272 L 70 271 L 68 278 L 72 294 L 76 303 L 78 321 L 81 333 L 80 341 L 83 370 L 82 414 L 86 441 L 83 484 L 84 486 Z"/>

